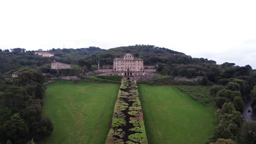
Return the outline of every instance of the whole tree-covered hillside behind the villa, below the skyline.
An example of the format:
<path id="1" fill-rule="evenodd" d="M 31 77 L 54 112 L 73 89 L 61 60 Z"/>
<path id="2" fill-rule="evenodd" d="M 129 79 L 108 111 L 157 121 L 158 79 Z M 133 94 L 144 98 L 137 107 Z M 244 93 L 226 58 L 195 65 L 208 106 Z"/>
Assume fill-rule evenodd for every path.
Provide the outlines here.
<path id="1" fill-rule="evenodd" d="M 54 53 L 55 57 L 51 58 L 40 57 L 34 55 L 33 51 L 24 52 L 24 50 L 22 49 L 20 52 L 0 52 L 0 73 L 28 66 L 41 68 L 41 70 L 50 69 L 50 62 L 54 60 L 77 65 L 77 67 L 79 65 L 84 70 L 90 71 L 96 70 L 98 62 L 100 62 L 100 65 L 113 64 L 114 58 L 123 57 L 125 53 L 130 52 L 135 57 L 144 59 L 145 65 L 158 63 L 158 71 L 162 71 L 162 74 L 185 77 L 205 76 L 207 78 L 205 84 L 208 80 L 217 83 L 220 79 L 231 77 L 240 77 L 240 79 L 246 79 L 241 76 L 256 77 L 256 72 L 252 70 L 250 65 L 239 67 L 235 66 L 235 63 L 227 62 L 218 65 L 215 61 L 207 58 L 193 58 L 182 52 L 153 45 L 122 46 L 109 50 L 98 47 L 52 49 L 48 52 Z M 255 80 L 251 81 L 255 82 Z"/>

